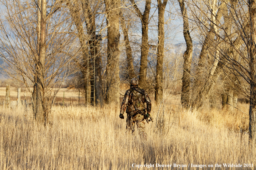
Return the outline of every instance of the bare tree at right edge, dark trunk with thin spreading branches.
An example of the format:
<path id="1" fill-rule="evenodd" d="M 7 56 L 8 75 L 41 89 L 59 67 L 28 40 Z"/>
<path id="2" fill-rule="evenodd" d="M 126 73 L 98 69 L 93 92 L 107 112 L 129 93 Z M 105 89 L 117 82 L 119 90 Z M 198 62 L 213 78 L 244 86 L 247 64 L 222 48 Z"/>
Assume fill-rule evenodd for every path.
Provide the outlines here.
<path id="1" fill-rule="evenodd" d="M 256 4 L 255 0 L 222 1 L 223 6 L 231 12 L 225 15 L 224 21 L 216 20 L 219 46 L 209 46 L 214 49 L 215 67 L 209 70 L 210 75 L 224 73 L 229 81 L 234 83 L 234 90 L 250 99 L 249 109 L 249 141 L 256 141 Z M 217 23 L 216 22 L 216 23 Z M 216 39 L 215 39 L 216 41 Z M 221 47 L 221 48 L 219 48 Z M 249 85 L 249 88 L 247 88 Z M 211 86 L 206 86 L 205 89 Z M 206 90 L 207 91 L 207 90 Z"/>

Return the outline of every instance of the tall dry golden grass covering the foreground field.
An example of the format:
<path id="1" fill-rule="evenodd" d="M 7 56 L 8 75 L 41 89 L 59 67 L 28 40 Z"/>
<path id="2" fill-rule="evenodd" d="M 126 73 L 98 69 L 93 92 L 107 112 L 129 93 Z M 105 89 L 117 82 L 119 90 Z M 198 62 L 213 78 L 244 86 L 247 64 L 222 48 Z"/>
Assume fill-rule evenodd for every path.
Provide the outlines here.
<path id="1" fill-rule="evenodd" d="M 256 166 L 256 147 L 249 146 L 248 134 L 241 136 L 232 130 L 230 124 L 224 123 L 228 118 L 216 110 L 207 112 L 215 114 L 208 119 L 203 119 L 203 111 L 180 110 L 179 124 L 168 133 L 159 133 L 155 122 L 146 124 L 145 141 L 137 131 L 133 135 L 126 133 L 125 120 L 119 118 L 119 107 L 114 105 L 54 106 L 52 125 L 47 127 L 37 124 L 30 112 L 0 109 L 1 170 L 129 170 L 134 169 L 132 164 L 240 163 L 253 164 L 251 169 Z M 153 117 L 156 111 L 153 106 Z M 229 115 L 229 119 L 235 120 L 233 117 Z"/>

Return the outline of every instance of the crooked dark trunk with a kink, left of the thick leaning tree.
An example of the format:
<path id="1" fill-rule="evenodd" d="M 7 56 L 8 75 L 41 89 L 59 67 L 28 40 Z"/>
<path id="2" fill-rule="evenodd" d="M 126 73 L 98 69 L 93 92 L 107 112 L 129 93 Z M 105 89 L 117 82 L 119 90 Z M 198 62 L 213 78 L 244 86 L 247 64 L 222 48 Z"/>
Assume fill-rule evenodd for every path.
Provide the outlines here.
<path id="1" fill-rule="evenodd" d="M 190 98 L 190 69 L 193 54 L 193 43 L 189 32 L 189 24 L 187 18 L 187 9 L 185 8 L 184 0 L 179 0 L 181 7 L 181 14 L 183 18 L 183 35 L 186 41 L 187 49 L 184 52 L 184 64 L 183 64 L 183 75 L 182 75 L 182 89 L 181 89 L 181 104 L 184 108 L 189 108 Z"/>

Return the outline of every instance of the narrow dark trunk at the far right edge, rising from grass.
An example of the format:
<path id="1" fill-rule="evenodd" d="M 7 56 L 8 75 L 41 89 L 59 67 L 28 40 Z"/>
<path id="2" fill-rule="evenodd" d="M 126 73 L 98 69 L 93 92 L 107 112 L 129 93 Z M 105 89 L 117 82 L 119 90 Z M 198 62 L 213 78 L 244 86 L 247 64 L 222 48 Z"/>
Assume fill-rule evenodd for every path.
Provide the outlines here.
<path id="1" fill-rule="evenodd" d="M 256 4 L 255 0 L 248 0 L 249 15 L 250 15 L 250 110 L 249 110 L 249 141 L 256 141 Z"/>

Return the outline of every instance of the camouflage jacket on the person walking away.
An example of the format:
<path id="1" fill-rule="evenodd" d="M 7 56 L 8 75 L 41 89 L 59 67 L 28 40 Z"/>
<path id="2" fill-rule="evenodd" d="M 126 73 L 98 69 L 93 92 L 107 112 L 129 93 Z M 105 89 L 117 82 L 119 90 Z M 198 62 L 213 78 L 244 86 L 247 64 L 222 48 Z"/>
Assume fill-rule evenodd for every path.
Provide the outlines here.
<path id="1" fill-rule="evenodd" d="M 131 86 L 131 89 L 125 92 L 125 97 L 122 101 L 120 114 L 123 114 L 126 109 L 126 113 L 136 112 L 136 110 L 144 110 L 147 103 L 147 113 L 151 112 L 151 101 L 145 90 L 138 88 L 137 86 Z"/>

